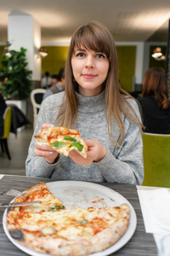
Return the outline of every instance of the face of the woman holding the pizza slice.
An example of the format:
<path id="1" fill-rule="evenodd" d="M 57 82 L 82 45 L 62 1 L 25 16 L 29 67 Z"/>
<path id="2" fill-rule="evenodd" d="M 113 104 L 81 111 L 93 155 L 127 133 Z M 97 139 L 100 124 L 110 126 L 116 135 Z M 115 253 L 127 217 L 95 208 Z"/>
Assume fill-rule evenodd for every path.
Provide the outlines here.
<path id="1" fill-rule="evenodd" d="M 109 60 L 106 55 L 76 47 L 71 58 L 71 66 L 79 93 L 82 96 L 98 95 L 109 70 Z"/>

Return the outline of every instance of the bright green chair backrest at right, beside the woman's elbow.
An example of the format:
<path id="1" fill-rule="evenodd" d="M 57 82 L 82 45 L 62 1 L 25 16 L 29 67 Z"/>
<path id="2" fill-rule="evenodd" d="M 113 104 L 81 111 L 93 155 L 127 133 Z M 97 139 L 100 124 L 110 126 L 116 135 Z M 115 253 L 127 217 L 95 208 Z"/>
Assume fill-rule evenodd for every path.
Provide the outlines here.
<path id="1" fill-rule="evenodd" d="M 170 135 L 144 133 L 144 186 L 170 188 Z"/>

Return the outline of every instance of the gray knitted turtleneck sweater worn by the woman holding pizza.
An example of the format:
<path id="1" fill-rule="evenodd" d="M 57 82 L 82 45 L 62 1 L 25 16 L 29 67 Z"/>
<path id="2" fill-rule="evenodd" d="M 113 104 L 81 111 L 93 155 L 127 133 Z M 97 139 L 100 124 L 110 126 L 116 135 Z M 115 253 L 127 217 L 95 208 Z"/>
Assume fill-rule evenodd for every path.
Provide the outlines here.
<path id="1" fill-rule="evenodd" d="M 42 102 L 37 125 L 33 136 L 42 129 L 43 123 L 54 124 L 54 120 L 62 102 L 64 92 L 48 96 Z M 79 98 L 77 130 L 82 138 L 94 139 L 102 143 L 107 149 L 103 160 L 93 162 L 90 166 L 81 166 L 71 160 L 70 157 L 60 155 L 59 160 L 50 165 L 42 157 L 34 154 L 35 141 L 32 137 L 26 159 L 26 175 L 31 177 L 52 177 L 59 180 L 82 180 L 108 183 L 142 184 L 144 177 L 143 143 L 141 131 L 137 125 L 131 123 L 122 115 L 125 125 L 125 137 L 121 148 L 116 148 L 108 135 L 105 119 L 105 91 L 98 96 Z M 132 101 L 133 108 L 138 114 L 139 108 Z M 118 125 L 114 124 L 114 136 L 120 137 Z"/>

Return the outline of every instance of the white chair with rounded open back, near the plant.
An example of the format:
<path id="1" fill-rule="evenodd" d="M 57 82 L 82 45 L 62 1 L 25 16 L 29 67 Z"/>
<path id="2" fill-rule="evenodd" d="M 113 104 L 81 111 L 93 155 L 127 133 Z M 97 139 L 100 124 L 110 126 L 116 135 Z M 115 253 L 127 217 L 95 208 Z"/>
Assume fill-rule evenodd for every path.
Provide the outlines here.
<path id="1" fill-rule="evenodd" d="M 31 103 L 33 106 L 33 116 L 34 116 L 33 128 L 35 128 L 36 121 L 37 121 L 37 114 L 42 103 L 42 97 L 45 92 L 46 90 L 42 88 L 37 88 L 31 91 Z"/>

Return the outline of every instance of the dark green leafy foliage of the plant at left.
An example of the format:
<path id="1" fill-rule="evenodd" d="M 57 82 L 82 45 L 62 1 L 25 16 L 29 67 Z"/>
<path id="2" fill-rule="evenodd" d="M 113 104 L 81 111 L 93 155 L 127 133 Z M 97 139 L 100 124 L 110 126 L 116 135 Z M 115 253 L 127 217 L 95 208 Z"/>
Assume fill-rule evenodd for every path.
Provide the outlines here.
<path id="1" fill-rule="evenodd" d="M 8 44 L 10 45 L 10 44 Z M 27 69 L 26 49 L 19 51 L 3 50 L 3 61 L 0 67 L 1 91 L 6 99 L 26 100 L 31 93 L 31 71 Z"/>

